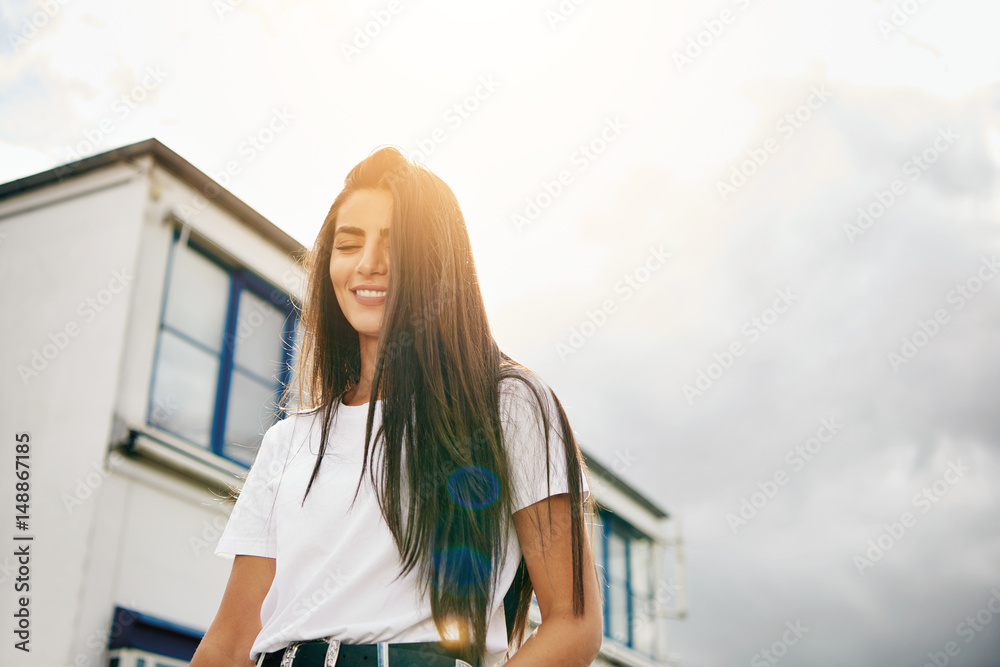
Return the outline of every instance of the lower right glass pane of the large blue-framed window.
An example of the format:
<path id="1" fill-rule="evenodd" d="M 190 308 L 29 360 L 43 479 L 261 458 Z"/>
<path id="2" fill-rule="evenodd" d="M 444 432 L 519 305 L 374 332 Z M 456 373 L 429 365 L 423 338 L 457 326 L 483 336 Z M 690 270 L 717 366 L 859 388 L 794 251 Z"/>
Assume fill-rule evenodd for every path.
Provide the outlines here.
<path id="1" fill-rule="evenodd" d="M 277 391 L 256 378 L 233 371 L 226 410 L 226 435 L 222 453 L 249 466 L 264 431 L 277 411 Z"/>

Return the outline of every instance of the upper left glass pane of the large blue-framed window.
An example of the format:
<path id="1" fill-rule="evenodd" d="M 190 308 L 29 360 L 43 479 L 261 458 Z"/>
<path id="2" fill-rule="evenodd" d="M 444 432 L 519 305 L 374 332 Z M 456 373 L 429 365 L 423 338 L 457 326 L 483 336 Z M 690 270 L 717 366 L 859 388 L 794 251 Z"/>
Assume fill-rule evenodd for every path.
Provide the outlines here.
<path id="1" fill-rule="evenodd" d="M 229 273 L 187 246 L 174 246 L 163 321 L 210 350 L 222 349 Z"/>

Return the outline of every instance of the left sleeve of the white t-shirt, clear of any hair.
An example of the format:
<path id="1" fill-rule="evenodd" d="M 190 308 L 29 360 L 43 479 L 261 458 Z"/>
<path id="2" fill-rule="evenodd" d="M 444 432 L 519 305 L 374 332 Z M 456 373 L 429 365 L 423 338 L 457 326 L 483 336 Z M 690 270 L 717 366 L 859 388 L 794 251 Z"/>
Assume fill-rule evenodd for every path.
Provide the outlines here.
<path id="1" fill-rule="evenodd" d="M 281 475 L 278 424 L 272 425 L 261 439 L 257 457 L 250 466 L 243 489 L 222 531 L 216 555 L 241 554 L 277 558 L 278 540 L 274 523 L 274 500 L 277 478 Z"/>

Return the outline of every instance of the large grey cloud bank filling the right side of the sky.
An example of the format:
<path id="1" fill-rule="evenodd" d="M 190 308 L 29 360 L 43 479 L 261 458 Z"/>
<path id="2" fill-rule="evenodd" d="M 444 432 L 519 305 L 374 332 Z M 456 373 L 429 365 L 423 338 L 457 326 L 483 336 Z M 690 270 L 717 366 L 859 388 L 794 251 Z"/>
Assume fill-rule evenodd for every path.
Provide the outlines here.
<path id="1" fill-rule="evenodd" d="M 790 91 L 812 83 L 772 82 L 758 103 L 794 99 Z M 789 649 L 794 664 L 922 664 L 924 651 L 955 634 L 961 610 L 985 604 L 1000 581 L 990 482 L 1000 473 L 1000 348 L 988 342 L 1000 280 L 977 281 L 996 273 L 991 258 L 1000 255 L 1000 230 L 982 206 L 997 197 L 987 138 L 1000 121 L 997 89 L 947 100 L 829 87 L 835 97 L 725 205 L 692 209 L 669 177 L 668 196 L 643 193 L 666 211 L 675 197 L 687 213 L 686 229 L 671 228 L 686 241 L 671 279 L 651 283 L 648 303 L 659 307 L 623 310 L 606 327 L 602 335 L 628 330 L 627 344 L 595 337 L 584 362 L 552 366 L 572 378 L 564 400 L 587 406 L 577 428 L 613 443 L 595 455 L 611 463 L 627 444 L 639 452 L 628 477 L 685 512 L 692 611 L 675 626 L 682 664 L 746 662 L 800 616 L 812 629 Z M 935 155 L 948 128 L 959 137 L 938 141 Z M 748 148 L 772 133 L 762 121 Z M 905 171 L 914 156 L 934 160 Z M 893 180 L 904 193 L 851 243 L 844 225 Z M 626 210 L 642 210 L 633 190 L 623 192 Z M 782 288 L 793 305 L 766 330 L 751 325 L 757 338 L 746 335 L 753 318 L 768 322 Z M 928 321 L 941 310 L 948 319 L 935 329 Z M 927 330 L 934 335 L 921 338 Z M 904 337 L 924 344 L 893 368 L 888 353 L 902 354 Z M 688 404 L 682 385 L 724 366 L 713 355 L 733 341 L 743 355 Z M 587 375 L 593 368 L 605 369 L 599 382 Z M 786 457 L 831 415 L 843 430 L 796 472 Z M 922 514 L 912 497 L 958 459 L 971 469 Z M 787 485 L 734 536 L 727 513 L 779 470 Z M 852 557 L 907 509 L 916 525 L 860 575 Z M 970 660 L 992 640 L 977 641 Z"/>

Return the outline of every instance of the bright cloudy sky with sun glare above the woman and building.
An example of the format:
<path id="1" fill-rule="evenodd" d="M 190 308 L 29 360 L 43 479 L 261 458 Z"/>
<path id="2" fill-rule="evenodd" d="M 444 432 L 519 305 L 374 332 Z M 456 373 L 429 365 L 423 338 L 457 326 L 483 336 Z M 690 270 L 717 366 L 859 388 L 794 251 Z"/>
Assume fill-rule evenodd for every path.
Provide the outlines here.
<path id="1" fill-rule="evenodd" d="M 1000 4 L 43 4 L 0 182 L 155 137 L 306 245 L 377 146 L 452 187 L 501 347 L 679 520 L 676 664 L 1000 665 Z"/>

